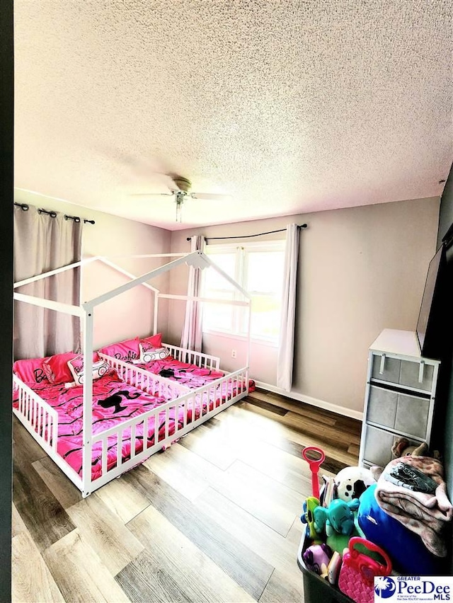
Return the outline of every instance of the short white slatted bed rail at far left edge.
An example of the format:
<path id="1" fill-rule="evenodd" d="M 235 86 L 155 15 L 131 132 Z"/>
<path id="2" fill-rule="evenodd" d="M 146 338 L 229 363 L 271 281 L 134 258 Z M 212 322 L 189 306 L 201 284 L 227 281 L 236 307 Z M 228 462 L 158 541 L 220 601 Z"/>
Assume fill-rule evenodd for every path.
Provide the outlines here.
<path id="1" fill-rule="evenodd" d="M 13 374 L 14 413 L 47 452 L 57 451 L 58 414 L 33 389 Z"/>

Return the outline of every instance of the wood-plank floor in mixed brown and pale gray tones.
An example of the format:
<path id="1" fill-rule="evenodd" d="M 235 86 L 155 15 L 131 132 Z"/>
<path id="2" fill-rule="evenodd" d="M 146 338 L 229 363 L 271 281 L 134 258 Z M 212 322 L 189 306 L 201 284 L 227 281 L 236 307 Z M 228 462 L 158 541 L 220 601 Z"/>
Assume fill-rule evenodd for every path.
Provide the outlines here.
<path id="1" fill-rule="evenodd" d="M 301 451 L 357 464 L 360 422 L 256 391 L 83 500 L 14 424 L 13 602 L 302 602 Z"/>

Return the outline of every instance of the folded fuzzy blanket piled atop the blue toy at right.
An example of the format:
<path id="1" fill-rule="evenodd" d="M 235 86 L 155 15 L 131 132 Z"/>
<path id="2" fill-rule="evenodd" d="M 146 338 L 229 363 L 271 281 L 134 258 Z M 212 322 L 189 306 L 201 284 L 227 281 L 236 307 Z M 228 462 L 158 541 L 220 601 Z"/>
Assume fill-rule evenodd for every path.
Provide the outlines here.
<path id="1" fill-rule="evenodd" d="M 407 473 L 414 468 L 431 478 L 434 481 L 432 488 L 419 487 L 416 478 L 413 481 L 408 479 L 407 483 L 404 483 L 404 479 L 398 482 L 394 474 L 398 474 L 396 465 L 401 463 L 403 469 L 407 466 Z M 443 475 L 442 464 L 430 456 L 402 456 L 401 459 L 390 461 L 382 471 L 375 493 L 379 507 L 416 532 L 426 548 L 438 557 L 447 555 L 442 533 L 453 517 L 453 506 L 447 497 Z M 420 488 L 430 491 L 420 491 Z"/>

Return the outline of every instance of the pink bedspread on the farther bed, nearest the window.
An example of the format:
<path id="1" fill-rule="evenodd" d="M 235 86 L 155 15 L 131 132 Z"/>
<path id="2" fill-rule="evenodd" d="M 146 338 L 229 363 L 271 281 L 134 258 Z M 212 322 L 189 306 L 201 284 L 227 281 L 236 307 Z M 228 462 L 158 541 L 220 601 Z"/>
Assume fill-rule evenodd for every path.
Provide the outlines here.
<path id="1" fill-rule="evenodd" d="M 153 360 L 152 362 L 135 364 L 135 366 L 144 369 L 145 371 L 149 371 L 150 373 L 161 375 L 161 377 L 178 381 L 178 383 L 190 387 L 190 389 L 208 385 L 212 383 L 212 381 L 224 377 L 222 371 L 203 369 L 197 367 L 195 364 L 187 364 L 186 362 L 175 360 L 172 356 L 168 356 L 164 360 Z M 248 381 L 248 388 L 249 391 L 255 389 L 255 382 L 252 381 L 252 379 Z M 223 394 L 226 394 L 226 391 L 224 391 Z M 230 396 L 231 394 L 235 395 L 232 391 L 229 391 Z"/>

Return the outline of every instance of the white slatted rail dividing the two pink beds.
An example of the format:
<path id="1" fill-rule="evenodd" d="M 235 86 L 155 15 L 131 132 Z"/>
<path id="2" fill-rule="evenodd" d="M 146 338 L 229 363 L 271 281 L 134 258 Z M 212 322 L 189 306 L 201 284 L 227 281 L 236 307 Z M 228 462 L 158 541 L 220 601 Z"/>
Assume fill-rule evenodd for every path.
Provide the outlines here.
<path id="1" fill-rule="evenodd" d="M 124 362 L 123 360 L 118 360 L 113 356 L 102 353 L 99 356 L 107 360 L 123 381 L 142 391 L 146 391 L 147 394 L 161 396 L 166 398 L 166 400 L 175 400 L 190 391 L 188 387 L 179 384 L 177 381 L 144 371 L 136 365 L 130 364 L 130 362 Z"/>

